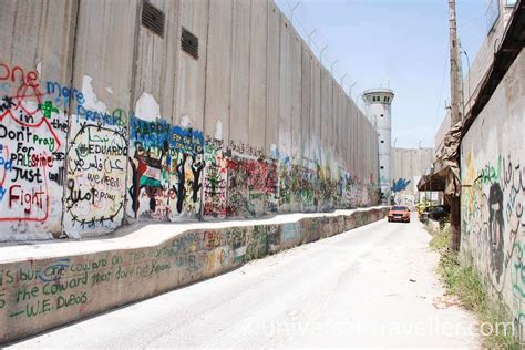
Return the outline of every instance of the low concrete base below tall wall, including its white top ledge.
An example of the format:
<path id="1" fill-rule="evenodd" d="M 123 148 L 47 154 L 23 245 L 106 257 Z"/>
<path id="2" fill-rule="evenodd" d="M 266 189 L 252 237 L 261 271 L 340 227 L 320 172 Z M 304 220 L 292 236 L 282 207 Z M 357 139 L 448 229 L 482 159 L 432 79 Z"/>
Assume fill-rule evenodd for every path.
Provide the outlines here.
<path id="1" fill-rule="evenodd" d="M 0 248 L 0 344 L 379 220 L 387 207 L 153 224 L 122 237 Z"/>

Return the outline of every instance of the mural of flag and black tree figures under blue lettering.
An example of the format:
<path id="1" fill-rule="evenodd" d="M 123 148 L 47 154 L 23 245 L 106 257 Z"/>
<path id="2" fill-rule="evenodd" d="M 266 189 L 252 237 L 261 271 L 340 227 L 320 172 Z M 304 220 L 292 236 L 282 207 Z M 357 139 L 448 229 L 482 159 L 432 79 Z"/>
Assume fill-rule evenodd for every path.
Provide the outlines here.
<path id="1" fill-rule="evenodd" d="M 200 209 L 204 136 L 189 127 L 132 116 L 128 208 L 134 218 L 177 220 Z"/>

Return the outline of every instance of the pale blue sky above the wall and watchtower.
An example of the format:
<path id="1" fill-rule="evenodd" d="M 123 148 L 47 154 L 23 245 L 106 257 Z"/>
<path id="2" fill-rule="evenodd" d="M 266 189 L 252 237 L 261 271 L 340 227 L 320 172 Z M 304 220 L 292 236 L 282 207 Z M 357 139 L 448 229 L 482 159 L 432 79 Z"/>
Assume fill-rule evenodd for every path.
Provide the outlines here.
<path id="1" fill-rule="evenodd" d="M 276 0 L 289 17 L 298 0 Z M 473 62 L 486 35 L 486 0 L 456 0 L 463 50 Z M 348 72 L 352 96 L 388 86 L 392 104 L 392 143 L 433 146 L 434 132 L 450 100 L 447 0 L 300 0 L 294 27 L 312 47 L 326 44 L 323 63 L 334 75 Z M 467 71 L 465 56 L 463 70 Z M 347 84 L 348 83 L 348 84 Z M 361 104 L 360 104 L 361 105 Z"/>

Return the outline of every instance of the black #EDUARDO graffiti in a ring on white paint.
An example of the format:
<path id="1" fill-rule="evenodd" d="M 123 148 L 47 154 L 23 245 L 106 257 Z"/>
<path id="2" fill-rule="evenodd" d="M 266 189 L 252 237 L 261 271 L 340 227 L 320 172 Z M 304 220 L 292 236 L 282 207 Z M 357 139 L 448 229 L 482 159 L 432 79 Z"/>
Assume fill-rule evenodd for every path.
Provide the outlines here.
<path id="1" fill-rule="evenodd" d="M 124 215 L 127 131 L 115 125 L 73 123 L 68 152 L 64 229 L 111 231 Z"/>

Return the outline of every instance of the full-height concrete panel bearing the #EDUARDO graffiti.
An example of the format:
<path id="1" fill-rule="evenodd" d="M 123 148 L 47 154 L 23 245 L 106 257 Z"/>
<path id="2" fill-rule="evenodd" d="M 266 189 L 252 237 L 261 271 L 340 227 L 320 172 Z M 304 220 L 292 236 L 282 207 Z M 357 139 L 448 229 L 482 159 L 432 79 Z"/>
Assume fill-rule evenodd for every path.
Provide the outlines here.
<path id="1" fill-rule="evenodd" d="M 130 111 L 146 113 L 132 101 L 137 3 L 79 2 L 71 110 L 63 115 L 70 122 L 63 184 L 69 237 L 109 233 L 124 218 Z"/>

